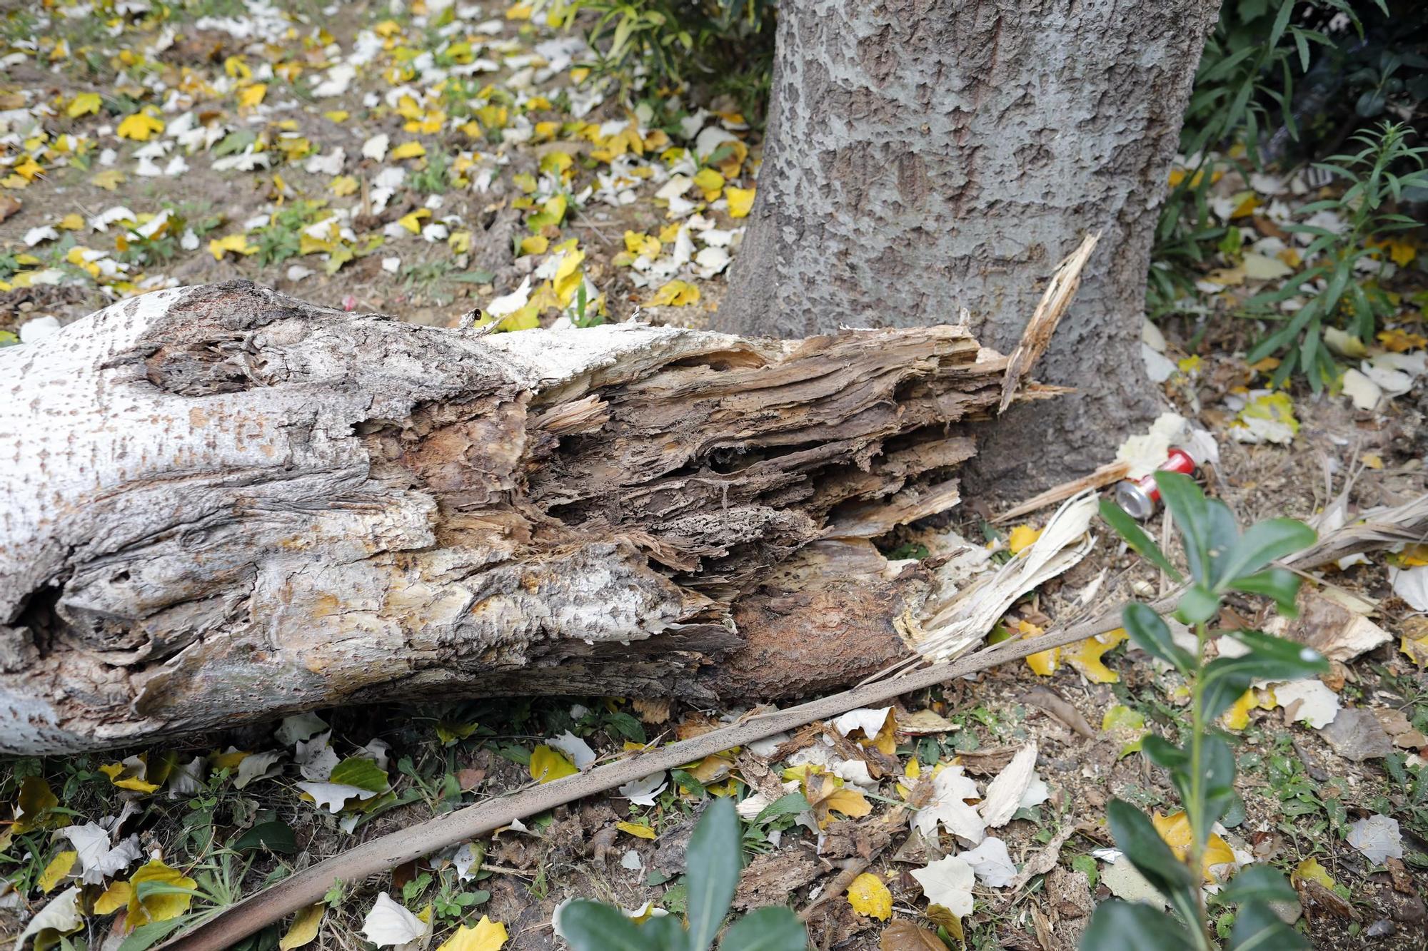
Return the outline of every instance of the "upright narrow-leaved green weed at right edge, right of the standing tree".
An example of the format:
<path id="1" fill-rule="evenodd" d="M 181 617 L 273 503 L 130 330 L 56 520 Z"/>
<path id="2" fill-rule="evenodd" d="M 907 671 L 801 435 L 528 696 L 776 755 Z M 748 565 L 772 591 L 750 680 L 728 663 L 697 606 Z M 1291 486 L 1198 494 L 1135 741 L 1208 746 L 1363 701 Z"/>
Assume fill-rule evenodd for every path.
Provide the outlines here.
<path id="1" fill-rule="evenodd" d="M 1418 227 L 1414 218 L 1392 210 L 1405 190 L 1428 188 L 1428 146 L 1411 146 L 1411 136 L 1405 124 L 1384 123 L 1375 131 L 1354 136 L 1361 146 L 1358 151 L 1315 163 L 1347 187 L 1337 198 L 1299 208 L 1299 214 L 1311 216 L 1309 220 L 1285 230 L 1309 236 L 1312 241 L 1302 257 L 1314 260 L 1322 254 L 1322 263 L 1301 270 L 1278 290 L 1255 294 L 1241 311 L 1252 320 L 1282 323 L 1245 354 L 1248 363 L 1281 357 L 1272 386 L 1282 384 L 1298 370 L 1318 393 L 1339 376 L 1322 340 L 1325 328 L 1344 324 L 1367 344 L 1374 340 L 1378 321 L 1394 313 L 1389 297 L 1377 284 L 1361 281 L 1358 271 L 1359 261 L 1382 254 L 1382 248 L 1369 243 L 1372 238 Z M 1312 216 L 1322 213 L 1331 217 L 1315 223 Z M 1342 227 L 1331 221 L 1342 221 Z M 1279 308 L 1291 297 L 1304 294 L 1308 300 L 1298 310 L 1287 314 Z"/>

